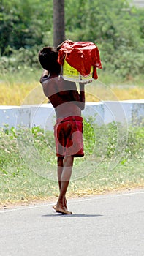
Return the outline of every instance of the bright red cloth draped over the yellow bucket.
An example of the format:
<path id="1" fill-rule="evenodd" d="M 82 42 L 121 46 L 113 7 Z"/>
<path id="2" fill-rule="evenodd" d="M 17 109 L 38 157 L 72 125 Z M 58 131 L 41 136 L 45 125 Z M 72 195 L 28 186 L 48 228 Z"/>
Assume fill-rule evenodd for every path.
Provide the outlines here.
<path id="1" fill-rule="evenodd" d="M 89 75 L 93 66 L 94 79 L 98 78 L 96 68 L 102 69 L 99 50 L 93 42 L 64 42 L 58 51 L 58 63 L 63 65 L 64 59 L 83 76 Z"/>

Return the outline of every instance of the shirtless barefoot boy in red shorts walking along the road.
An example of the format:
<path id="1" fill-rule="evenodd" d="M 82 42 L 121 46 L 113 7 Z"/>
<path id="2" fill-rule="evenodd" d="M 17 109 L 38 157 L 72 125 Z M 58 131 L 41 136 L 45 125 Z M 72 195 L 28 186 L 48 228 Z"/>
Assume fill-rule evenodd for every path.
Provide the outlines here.
<path id="1" fill-rule="evenodd" d="M 39 51 L 39 62 L 44 69 L 40 83 L 44 94 L 56 111 L 54 136 L 58 165 L 59 196 L 53 208 L 61 214 L 72 214 L 67 209 L 66 192 L 72 174 L 74 157 L 83 157 L 83 118 L 85 108 L 84 84 L 80 92 L 74 82 L 66 81 L 60 75 L 61 65 L 57 62 L 58 50 L 45 47 Z"/>

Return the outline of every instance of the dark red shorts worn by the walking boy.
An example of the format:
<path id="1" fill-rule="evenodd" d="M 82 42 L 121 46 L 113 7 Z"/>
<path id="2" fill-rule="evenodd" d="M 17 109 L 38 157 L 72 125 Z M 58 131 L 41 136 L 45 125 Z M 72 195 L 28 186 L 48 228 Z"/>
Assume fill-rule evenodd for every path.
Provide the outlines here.
<path id="1" fill-rule="evenodd" d="M 56 155 L 83 157 L 83 118 L 69 116 L 58 118 L 54 126 Z"/>

